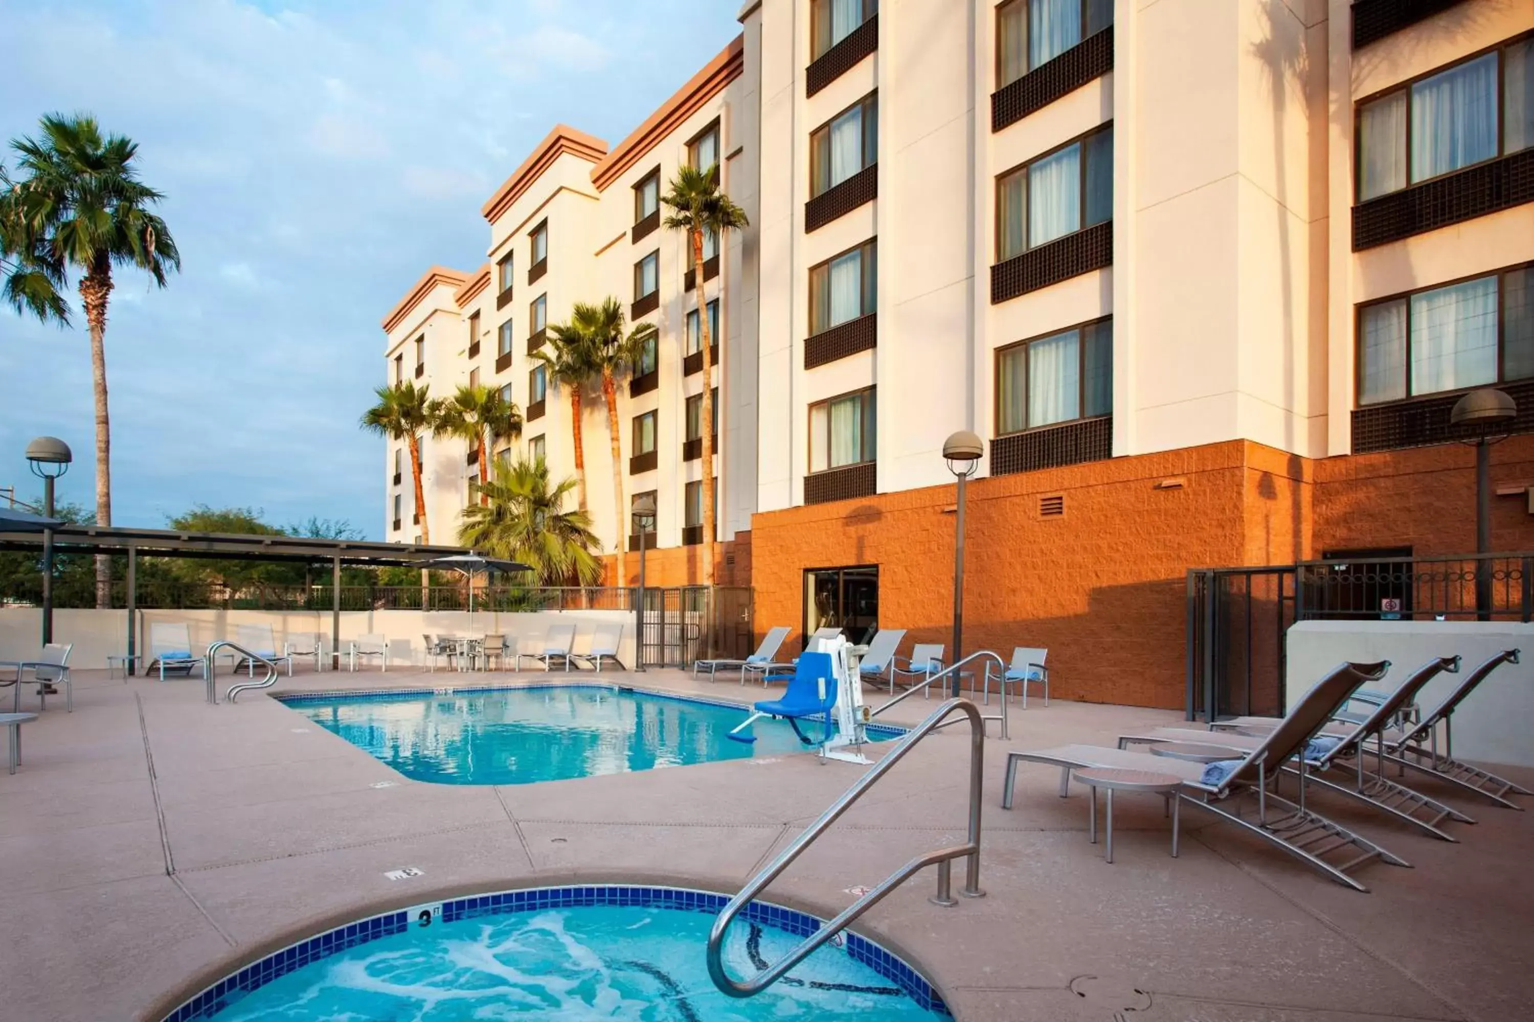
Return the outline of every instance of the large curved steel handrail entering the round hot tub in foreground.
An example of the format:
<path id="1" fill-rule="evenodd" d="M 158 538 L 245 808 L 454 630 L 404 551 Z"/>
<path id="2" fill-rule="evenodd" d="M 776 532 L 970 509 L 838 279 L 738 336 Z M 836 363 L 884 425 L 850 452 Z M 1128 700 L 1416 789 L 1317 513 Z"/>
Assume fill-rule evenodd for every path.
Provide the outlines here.
<path id="1" fill-rule="evenodd" d="M 850 904 L 842 910 L 834 919 L 822 925 L 819 930 L 804 938 L 798 947 L 788 952 L 776 965 L 769 965 L 759 971 L 755 978 L 746 982 L 736 982 L 730 979 L 729 973 L 724 971 L 724 935 L 729 932 L 730 924 L 735 921 L 747 904 L 756 898 L 767 886 L 775 881 L 782 870 L 785 870 L 793 860 L 815 843 L 827 827 L 836 823 L 838 817 L 847 812 L 854 801 L 862 798 L 864 792 L 873 788 L 881 777 L 890 772 L 900 758 L 910 752 L 917 742 L 925 739 L 928 734 L 936 731 L 943 720 L 954 711 L 963 712 L 969 719 L 969 835 L 963 844 L 956 844 L 946 849 L 937 849 L 936 852 L 928 852 L 927 855 L 917 855 L 910 863 L 890 873 L 877 887 L 865 893 L 862 898 Z M 830 941 L 833 936 L 851 925 L 858 916 L 873 909 L 876 904 L 884 901 L 884 896 L 891 890 L 904 884 L 917 872 L 927 869 L 931 864 L 937 864 L 937 893 L 930 898 L 936 906 L 951 907 L 959 904 L 953 898 L 953 860 L 960 857 L 968 857 L 969 861 L 965 867 L 965 884 L 960 892 L 966 898 L 983 898 L 985 892 L 980 890 L 980 783 L 983 778 L 985 768 L 985 719 L 980 716 L 979 708 L 968 699 L 950 699 L 942 706 L 939 706 L 933 716 L 916 726 L 914 731 L 907 734 L 900 742 L 890 749 L 879 763 L 862 775 L 862 778 L 847 789 L 847 792 L 831 803 L 831 807 L 821 814 L 821 818 L 810 824 L 810 827 L 795 838 L 793 844 L 782 850 L 772 863 L 764 866 L 761 872 L 756 873 L 741 889 L 741 893 L 730 899 L 730 904 L 724 906 L 724 912 L 719 918 L 713 921 L 713 930 L 709 933 L 709 978 L 713 979 L 713 985 L 723 993 L 732 997 L 750 997 L 784 976 L 790 968 L 804 961 L 808 955 L 815 953 L 818 947 Z"/>

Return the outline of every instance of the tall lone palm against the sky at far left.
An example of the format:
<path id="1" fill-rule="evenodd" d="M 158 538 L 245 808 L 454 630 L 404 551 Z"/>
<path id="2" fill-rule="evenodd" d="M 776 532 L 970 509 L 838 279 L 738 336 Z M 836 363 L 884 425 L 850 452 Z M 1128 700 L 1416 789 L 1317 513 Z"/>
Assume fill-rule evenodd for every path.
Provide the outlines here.
<path id="1" fill-rule="evenodd" d="M 8 253 L 5 297 L 18 313 L 67 325 L 58 294 L 69 270 L 80 276 L 80 299 L 91 328 L 95 389 L 97 522 L 112 524 L 112 429 L 106 395 L 106 310 L 112 270 L 137 267 L 158 287 L 181 268 L 166 222 L 150 210 L 163 198 L 138 179 L 138 144 L 101 135 L 95 118 L 43 116 L 38 138 L 17 138 L 17 170 L 25 175 L 0 198 L 0 248 Z M 97 556 L 97 607 L 110 601 L 112 559 Z"/>

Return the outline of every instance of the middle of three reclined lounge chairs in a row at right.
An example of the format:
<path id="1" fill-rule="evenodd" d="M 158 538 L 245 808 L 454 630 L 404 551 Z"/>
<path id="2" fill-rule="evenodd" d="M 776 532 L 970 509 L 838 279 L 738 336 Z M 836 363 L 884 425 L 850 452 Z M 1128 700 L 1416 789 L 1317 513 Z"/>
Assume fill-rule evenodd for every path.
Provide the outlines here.
<path id="1" fill-rule="evenodd" d="M 1305 746 L 1305 783 L 1338 792 L 1339 795 L 1347 795 L 1348 798 L 1356 798 L 1358 801 L 1373 806 L 1374 809 L 1388 812 L 1397 820 L 1414 824 L 1436 838 L 1454 841 L 1456 838 L 1442 830 L 1439 824 L 1445 820 L 1454 820 L 1457 823 L 1474 823 L 1474 820 L 1451 806 L 1445 806 L 1440 801 L 1428 798 L 1422 792 L 1413 791 L 1405 785 L 1397 785 L 1396 781 L 1387 778 L 1382 758 L 1379 760 L 1379 768 L 1374 772 L 1368 772 L 1365 769 L 1365 760 L 1368 758 L 1368 739 L 1371 735 L 1381 739 L 1390 722 L 1401 712 L 1401 708 L 1410 705 L 1410 702 L 1416 699 L 1417 693 L 1422 691 L 1422 686 L 1443 671 L 1457 674 L 1459 657 L 1433 657 L 1413 671 L 1407 680 L 1396 688 L 1396 691 L 1387 693 L 1385 700 L 1358 723 L 1347 723 L 1341 726 L 1328 725 L 1322 728 L 1316 739 Z M 1164 742 L 1193 742 L 1227 746 L 1235 749 L 1238 754 L 1246 754 L 1256 749 L 1262 743 L 1266 732 L 1270 731 L 1272 728 L 1267 728 L 1264 732 L 1252 734 L 1226 729 L 1203 731 L 1198 728 L 1155 728 L 1144 734 L 1120 735 L 1118 748 L 1123 749 L 1131 745 L 1157 745 Z M 1351 762 L 1348 763 L 1344 760 Z M 1296 777 L 1301 775 L 1299 768 L 1295 763 L 1289 763 L 1282 769 L 1285 774 L 1293 774 Z"/>

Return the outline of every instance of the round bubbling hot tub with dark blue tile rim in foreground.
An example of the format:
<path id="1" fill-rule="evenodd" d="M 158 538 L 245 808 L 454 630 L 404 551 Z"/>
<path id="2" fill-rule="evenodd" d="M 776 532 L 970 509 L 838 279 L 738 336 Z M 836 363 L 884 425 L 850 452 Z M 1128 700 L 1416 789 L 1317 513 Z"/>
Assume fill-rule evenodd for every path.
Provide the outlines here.
<path id="1" fill-rule="evenodd" d="M 755 997 L 721 994 L 709 979 L 704 942 L 726 901 L 710 892 L 609 884 L 414 906 L 253 962 L 166 1022 L 948 1017 L 920 973 L 854 933 Z M 724 961 L 733 976 L 755 975 L 819 925 L 815 916 L 755 902 L 732 927 Z"/>

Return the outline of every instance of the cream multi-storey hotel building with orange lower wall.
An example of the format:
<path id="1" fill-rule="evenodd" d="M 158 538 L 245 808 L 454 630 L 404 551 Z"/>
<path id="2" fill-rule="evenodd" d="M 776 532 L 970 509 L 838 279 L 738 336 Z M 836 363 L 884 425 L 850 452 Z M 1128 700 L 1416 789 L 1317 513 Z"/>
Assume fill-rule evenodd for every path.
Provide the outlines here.
<path id="1" fill-rule="evenodd" d="M 719 581 L 755 588 L 758 630 L 948 637 L 957 429 L 986 447 L 965 645 L 1049 647 L 1065 696 L 1181 705 L 1189 568 L 1473 550 L 1467 389 L 1519 401 L 1493 547 L 1534 547 L 1531 0 L 761 0 L 741 23 L 612 152 L 555 129 L 485 205 L 486 267 L 428 271 L 385 322 L 391 378 L 477 371 L 528 408 L 528 302 L 632 297 L 660 345 L 624 421 L 653 409 L 660 454 L 626 486 L 658 493 L 661 584 L 698 578 L 701 380 L 643 182 L 715 123 L 752 219 L 709 291 Z M 538 230 L 545 282 L 497 308 Z M 523 443 L 568 473 L 568 408 L 542 421 Z M 586 437 L 611 544 L 600 408 Z M 434 527 L 472 472 L 440 447 Z"/>

